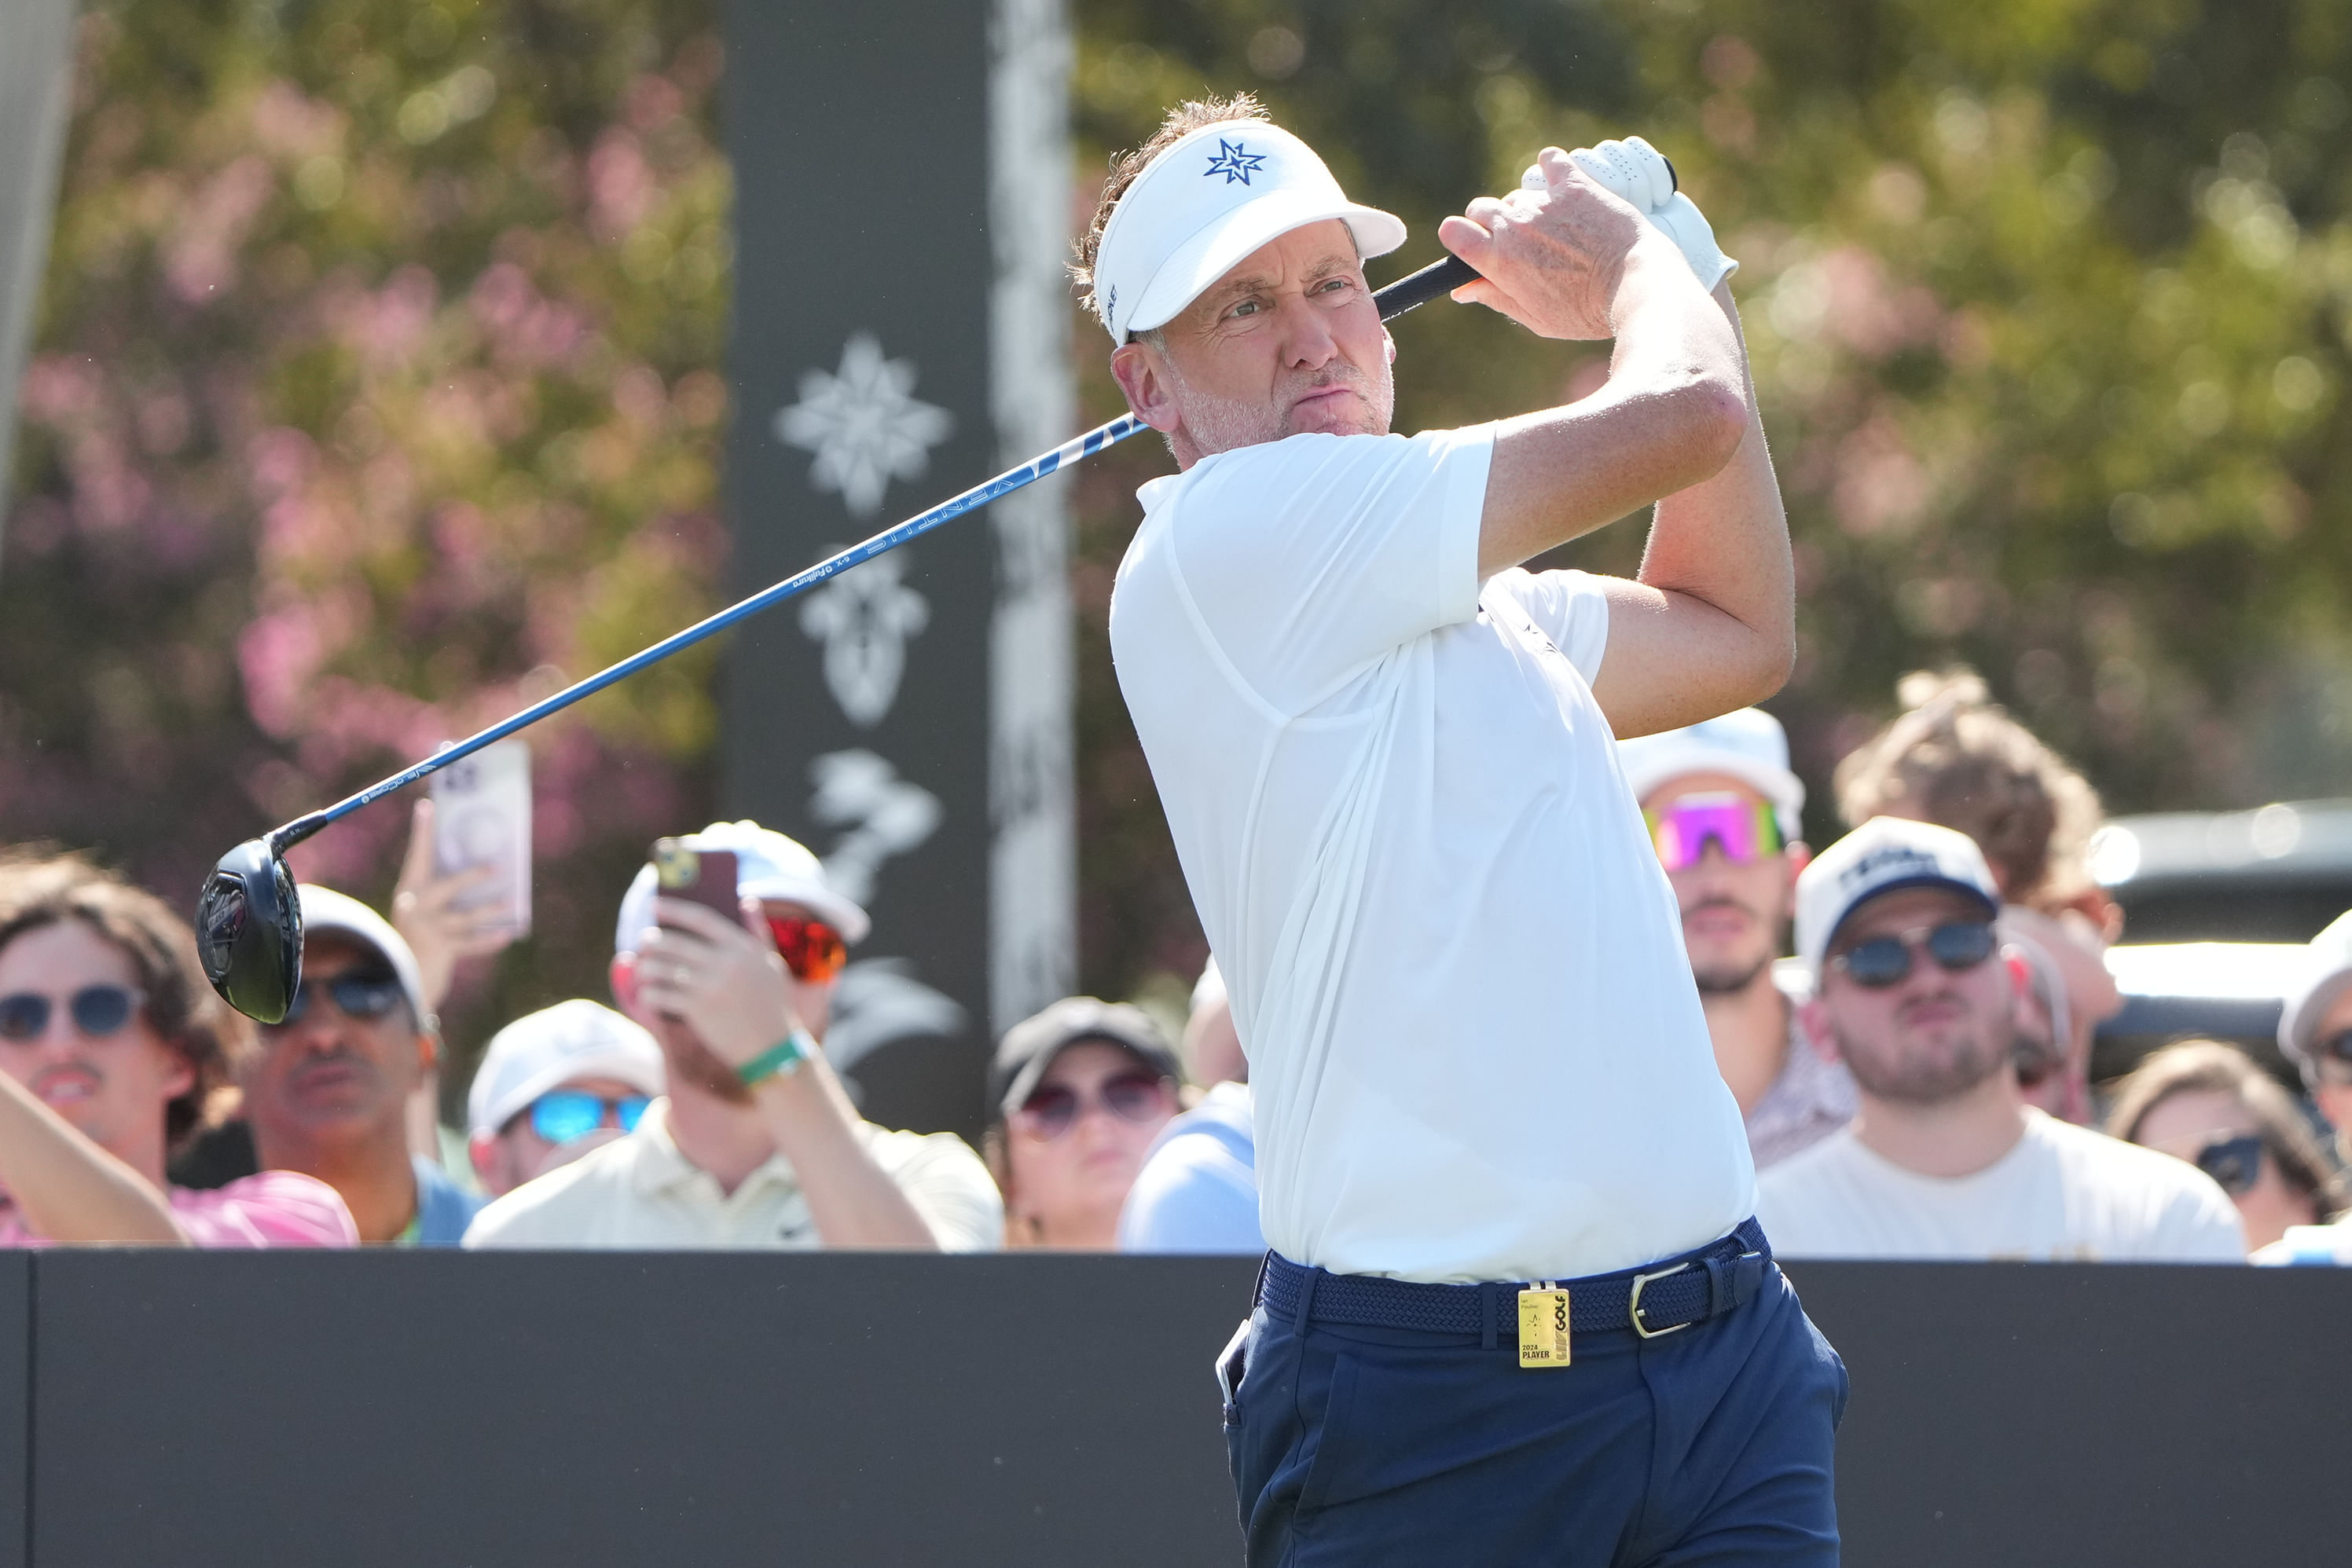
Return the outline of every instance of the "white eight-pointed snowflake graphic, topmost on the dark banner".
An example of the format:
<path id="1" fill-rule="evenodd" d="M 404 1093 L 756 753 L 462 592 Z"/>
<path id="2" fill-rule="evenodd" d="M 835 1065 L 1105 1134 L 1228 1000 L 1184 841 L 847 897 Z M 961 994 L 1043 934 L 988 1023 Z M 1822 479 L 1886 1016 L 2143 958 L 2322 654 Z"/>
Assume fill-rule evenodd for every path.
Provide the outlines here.
<path id="1" fill-rule="evenodd" d="M 811 369 L 800 402 L 776 411 L 776 440 L 814 451 L 809 484 L 842 494 L 851 517 L 882 510 L 891 480 L 920 480 L 955 416 L 915 395 L 915 362 L 884 360 L 882 341 L 856 331 L 842 369 Z"/>

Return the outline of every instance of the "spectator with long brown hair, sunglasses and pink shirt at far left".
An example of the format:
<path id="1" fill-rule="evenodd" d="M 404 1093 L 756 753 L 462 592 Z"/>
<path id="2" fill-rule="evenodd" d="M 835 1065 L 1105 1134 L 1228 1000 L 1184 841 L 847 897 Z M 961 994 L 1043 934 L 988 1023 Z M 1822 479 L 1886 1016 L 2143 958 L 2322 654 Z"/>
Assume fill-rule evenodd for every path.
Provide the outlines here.
<path id="1" fill-rule="evenodd" d="M 75 856 L 0 863 L 0 1246 L 353 1246 L 308 1175 L 167 1185 L 249 1044 L 153 893 Z"/>

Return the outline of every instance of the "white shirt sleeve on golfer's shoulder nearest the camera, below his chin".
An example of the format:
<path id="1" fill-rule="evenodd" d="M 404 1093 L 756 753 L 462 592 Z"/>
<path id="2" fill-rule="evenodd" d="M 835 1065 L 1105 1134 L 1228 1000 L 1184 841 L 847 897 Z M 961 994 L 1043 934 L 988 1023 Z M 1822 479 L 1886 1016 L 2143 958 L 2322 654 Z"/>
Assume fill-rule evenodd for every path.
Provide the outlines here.
<path id="1" fill-rule="evenodd" d="M 1294 435 L 1216 456 L 1183 494 L 1174 557 L 1209 639 L 1284 712 L 1477 616 L 1494 428 Z"/>

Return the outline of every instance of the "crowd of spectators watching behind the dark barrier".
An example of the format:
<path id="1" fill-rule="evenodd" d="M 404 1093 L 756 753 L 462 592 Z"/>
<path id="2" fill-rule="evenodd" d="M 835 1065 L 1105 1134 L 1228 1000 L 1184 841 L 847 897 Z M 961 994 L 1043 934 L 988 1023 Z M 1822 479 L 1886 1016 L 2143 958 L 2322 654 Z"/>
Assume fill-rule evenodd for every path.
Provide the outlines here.
<path id="1" fill-rule="evenodd" d="M 1618 748 L 1776 1251 L 2352 1262 L 2352 914 L 2284 999 L 2298 1084 L 2187 1039 L 2093 1086 L 2122 1006 L 2098 795 L 1971 675 L 1900 698 L 1839 764 L 1846 832 L 1818 856 L 1773 717 Z M 301 886 L 303 980 L 263 1027 L 153 893 L 0 856 L 0 1246 L 1263 1251 L 1247 1027 L 1214 959 L 1181 1041 L 1094 997 L 1007 1030 L 974 1150 L 866 1121 L 826 1060 L 870 922 L 816 856 L 757 823 L 682 844 L 734 856 L 736 917 L 642 867 L 616 1006 L 501 1027 L 461 1133 L 435 1114 L 437 1009 L 503 938 L 416 844 L 390 919 Z"/>

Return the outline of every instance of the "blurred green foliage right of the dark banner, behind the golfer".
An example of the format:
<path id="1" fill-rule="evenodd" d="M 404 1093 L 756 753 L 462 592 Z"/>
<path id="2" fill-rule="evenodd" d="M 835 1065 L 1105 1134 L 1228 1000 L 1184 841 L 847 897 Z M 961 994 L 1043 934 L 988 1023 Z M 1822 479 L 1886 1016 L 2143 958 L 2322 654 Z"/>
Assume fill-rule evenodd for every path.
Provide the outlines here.
<path id="1" fill-rule="evenodd" d="M 2352 773 L 2352 12 L 2324 0 L 1202 0 L 1080 5 L 1087 169 L 1258 92 L 1414 226 L 1545 141 L 1639 132 L 1726 249 L 1799 562 L 1773 708 L 1828 773 L 1903 670 L 1971 663 L 2110 804 Z M 1392 268 L 1392 270 L 1388 270 Z M 1376 277 L 1376 280 L 1378 280 Z M 1077 334 L 1110 409 L 1101 336 Z M 1432 306 L 1399 428 L 1592 386 L 1590 350 Z M 1141 447 L 1141 444 L 1136 444 Z M 1164 454 L 1082 484 L 1087 980 L 1197 964 L 1103 609 Z M 1630 571 L 1639 520 L 1564 552 Z"/>

